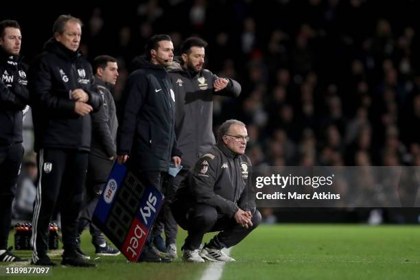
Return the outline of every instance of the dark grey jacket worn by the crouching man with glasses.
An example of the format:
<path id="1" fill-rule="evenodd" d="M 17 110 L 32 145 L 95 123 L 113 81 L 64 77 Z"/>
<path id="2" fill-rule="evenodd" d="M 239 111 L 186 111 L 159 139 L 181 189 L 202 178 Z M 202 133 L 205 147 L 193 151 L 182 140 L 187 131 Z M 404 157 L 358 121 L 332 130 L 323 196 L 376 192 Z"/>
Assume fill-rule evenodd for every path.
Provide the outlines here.
<path id="1" fill-rule="evenodd" d="M 214 145 L 197 162 L 181 187 L 176 200 L 186 197 L 214 207 L 232 217 L 240 208 L 255 211 L 252 166 L 245 154 L 234 154 L 226 145 Z"/>

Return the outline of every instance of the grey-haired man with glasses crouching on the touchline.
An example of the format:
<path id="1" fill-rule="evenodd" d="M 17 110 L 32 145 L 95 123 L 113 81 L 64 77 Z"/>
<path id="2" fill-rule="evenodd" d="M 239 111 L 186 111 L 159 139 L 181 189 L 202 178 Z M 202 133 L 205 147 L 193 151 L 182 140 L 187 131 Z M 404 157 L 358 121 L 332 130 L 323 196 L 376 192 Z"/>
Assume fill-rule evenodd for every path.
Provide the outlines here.
<path id="1" fill-rule="evenodd" d="M 189 262 L 235 261 L 222 248 L 241 242 L 261 222 L 255 208 L 249 140 L 241 121 L 230 119 L 218 130 L 217 144 L 204 154 L 176 192 L 172 213 L 188 231 L 183 259 Z M 220 231 L 200 250 L 205 233 Z"/>

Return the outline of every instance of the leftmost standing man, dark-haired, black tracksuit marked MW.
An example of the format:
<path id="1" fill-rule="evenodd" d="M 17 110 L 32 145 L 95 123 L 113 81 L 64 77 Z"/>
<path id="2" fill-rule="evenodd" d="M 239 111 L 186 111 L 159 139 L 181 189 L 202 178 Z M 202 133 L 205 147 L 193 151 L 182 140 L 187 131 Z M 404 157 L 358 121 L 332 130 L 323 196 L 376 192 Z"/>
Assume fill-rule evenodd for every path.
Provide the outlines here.
<path id="1" fill-rule="evenodd" d="M 8 248 L 12 201 L 23 158 L 22 110 L 29 95 L 26 71 L 19 53 L 21 27 L 16 21 L 0 22 L 0 262 L 23 261 Z"/>

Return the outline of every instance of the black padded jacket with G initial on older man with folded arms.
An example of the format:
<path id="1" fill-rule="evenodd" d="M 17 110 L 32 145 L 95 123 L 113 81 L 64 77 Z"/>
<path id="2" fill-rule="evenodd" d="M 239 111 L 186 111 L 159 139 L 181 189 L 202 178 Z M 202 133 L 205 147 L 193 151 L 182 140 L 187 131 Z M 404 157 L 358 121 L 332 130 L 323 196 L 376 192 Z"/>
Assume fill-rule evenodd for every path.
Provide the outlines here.
<path id="1" fill-rule="evenodd" d="M 71 91 L 83 89 L 88 104 L 98 110 L 102 99 L 94 84 L 92 67 L 80 51 L 71 51 L 54 38 L 45 43 L 29 69 L 29 89 L 35 149 L 69 148 L 89 151 L 91 115 L 75 113 Z"/>

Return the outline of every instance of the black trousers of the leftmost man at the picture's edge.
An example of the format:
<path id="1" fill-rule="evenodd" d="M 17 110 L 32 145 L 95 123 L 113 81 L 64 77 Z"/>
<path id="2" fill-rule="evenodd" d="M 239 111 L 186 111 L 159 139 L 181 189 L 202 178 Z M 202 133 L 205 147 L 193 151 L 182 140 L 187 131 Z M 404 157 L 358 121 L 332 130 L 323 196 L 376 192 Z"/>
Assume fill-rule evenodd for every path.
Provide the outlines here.
<path id="1" fill-rule="evenodd" d="M 0 250 L 8 248 L 12 202 L 22 158 L 23 146 L 21 143 L 0 146 Z"/>

